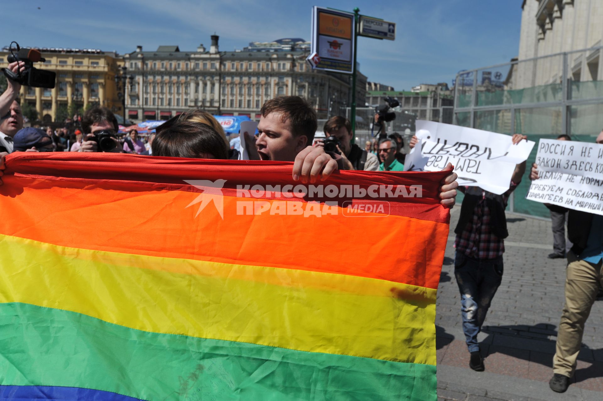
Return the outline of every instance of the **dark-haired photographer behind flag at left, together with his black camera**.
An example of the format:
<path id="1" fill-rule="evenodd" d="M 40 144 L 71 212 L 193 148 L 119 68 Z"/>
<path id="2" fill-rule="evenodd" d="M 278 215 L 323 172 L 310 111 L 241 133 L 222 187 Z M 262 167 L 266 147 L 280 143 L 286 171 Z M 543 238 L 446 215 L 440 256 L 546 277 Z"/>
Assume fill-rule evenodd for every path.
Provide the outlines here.
<path id="1" fill-rule="evenodd" d="M 78 152 L 124 151 L 116 135 L 119 130 L 117 119 L 107 107 L 95 106 L 84 113 L 81 128 L 84 131 L 84 139 Z"/>

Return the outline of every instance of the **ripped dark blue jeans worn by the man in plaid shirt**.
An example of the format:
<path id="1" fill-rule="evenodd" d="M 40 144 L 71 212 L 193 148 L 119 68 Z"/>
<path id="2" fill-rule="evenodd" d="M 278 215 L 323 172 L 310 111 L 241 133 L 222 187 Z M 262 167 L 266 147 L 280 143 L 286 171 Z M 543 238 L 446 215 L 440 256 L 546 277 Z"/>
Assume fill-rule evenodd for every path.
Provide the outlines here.
<path id="1" fill-rule="evenodd" d="M 496 259 L 473 259 L 456 252 L 454 274 L 461 292 L 461 315 L 469 352 L 479 351 L 478 333 L 490 303 L 502 281 L 502 255 Z"/>

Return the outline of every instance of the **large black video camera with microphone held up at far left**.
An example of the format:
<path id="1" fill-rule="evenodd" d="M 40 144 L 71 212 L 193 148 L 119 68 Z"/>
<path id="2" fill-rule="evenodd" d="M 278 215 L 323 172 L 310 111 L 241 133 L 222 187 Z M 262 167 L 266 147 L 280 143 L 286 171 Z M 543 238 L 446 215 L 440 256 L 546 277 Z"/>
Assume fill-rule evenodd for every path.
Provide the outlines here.
<path id="1" fill-rule="evenodd" d="M 13 43 L 17 46 L 16 53 L 12 47 Z M 42 53 L 40 53 L 39 50 L 19 48 L 19 43 L 11 42 L 10 54 L 8 55 L 7 60 L 8 63 L 25 63 L 24 71 L 12 72 L 8 68 L 3 68 L 2 72 L 4 72 L 4 75 L 8 79 L 25 86 L 46 87 L 49 89 L 54 88 L 57 74 L 52 71 L 37 69 L 33 66 L 34 63 L 46 61 L 46 59 L 42 57 Z"/>

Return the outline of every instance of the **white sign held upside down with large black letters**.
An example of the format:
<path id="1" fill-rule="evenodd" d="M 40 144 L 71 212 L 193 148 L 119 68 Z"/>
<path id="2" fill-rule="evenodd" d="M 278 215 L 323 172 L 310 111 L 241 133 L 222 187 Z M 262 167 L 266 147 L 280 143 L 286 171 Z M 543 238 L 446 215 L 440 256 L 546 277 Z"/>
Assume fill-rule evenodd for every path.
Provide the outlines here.
<path id="1" fill-rule="evenodd" d="M 459 125 L 417 120 L 417 145 L 406 156 L 405 171 L 440 171 L 452 163 L 459 185 L 479 186 L 493 194 L 509 189 L 518 163 L 528 159 L 532 141 Z"/>

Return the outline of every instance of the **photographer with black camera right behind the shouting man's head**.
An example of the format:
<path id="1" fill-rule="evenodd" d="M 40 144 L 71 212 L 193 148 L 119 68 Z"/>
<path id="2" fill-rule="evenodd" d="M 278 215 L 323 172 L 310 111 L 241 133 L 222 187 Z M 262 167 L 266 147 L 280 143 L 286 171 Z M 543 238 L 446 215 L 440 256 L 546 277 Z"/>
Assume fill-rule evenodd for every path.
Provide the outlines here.
<path id="1" fill-rule="evenodd" d="M 327 152 L 341 154 L 346 170 L 377 171 L 379 160 L 374 154 L 362 150 L 358 145 L 352 145 L 352 124 L 342 116 L 331 117 L 323 128 L 327 136 L 323 141 L 317 141 L 314 146 L 322 146 Z"/>

